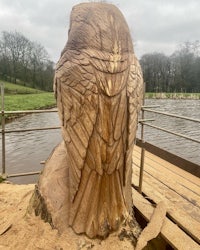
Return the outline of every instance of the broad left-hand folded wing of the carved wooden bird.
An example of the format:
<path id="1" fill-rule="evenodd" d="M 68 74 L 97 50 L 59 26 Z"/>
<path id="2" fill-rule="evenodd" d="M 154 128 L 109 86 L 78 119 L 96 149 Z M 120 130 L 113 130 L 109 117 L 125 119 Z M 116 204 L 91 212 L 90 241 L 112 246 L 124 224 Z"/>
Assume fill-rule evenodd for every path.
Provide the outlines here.
<path id="1" fill-rule="evenodd" d="M 74 51 L 65 52 L 56 68 L 54 91 L 67 147 L 73 201 L 98 109 L 95 78 L 86 57 Z"/>

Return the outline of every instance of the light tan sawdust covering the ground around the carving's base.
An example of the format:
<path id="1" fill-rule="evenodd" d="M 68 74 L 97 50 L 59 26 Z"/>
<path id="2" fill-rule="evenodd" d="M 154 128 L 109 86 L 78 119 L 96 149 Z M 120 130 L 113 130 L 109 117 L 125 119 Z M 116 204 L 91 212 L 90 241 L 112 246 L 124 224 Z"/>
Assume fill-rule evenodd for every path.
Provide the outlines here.
<path id="1" fill-rule="evenodd" d="M 119 232 L 105 240 L 76 235 L 70 228 L 62 235 L 40 217 L 27 214 L 34 185 L 0 184 L 0 250 L 133 250 L 130 239 Z"/>

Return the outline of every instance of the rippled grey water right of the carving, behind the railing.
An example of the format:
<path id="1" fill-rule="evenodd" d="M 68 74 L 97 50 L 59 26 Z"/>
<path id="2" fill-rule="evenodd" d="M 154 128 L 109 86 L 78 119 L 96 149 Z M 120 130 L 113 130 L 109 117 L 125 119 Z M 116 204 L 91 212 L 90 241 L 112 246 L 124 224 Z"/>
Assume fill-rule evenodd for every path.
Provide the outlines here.
<path id="1" fill-rule="evenodd" d="M 200 119 L 200 100 L 147 99 L 145 105 L 160 105 L 156 110 Z M 155 109 L 155 108 L 154 108 Z M 151 124 L 200 140 L 200 123 L 145 112 Z M 138 136 L 139 136 L 138 131 Z M 145 141 L 200 165 L 200 144 L 169 133 L 145 127 Z"/>

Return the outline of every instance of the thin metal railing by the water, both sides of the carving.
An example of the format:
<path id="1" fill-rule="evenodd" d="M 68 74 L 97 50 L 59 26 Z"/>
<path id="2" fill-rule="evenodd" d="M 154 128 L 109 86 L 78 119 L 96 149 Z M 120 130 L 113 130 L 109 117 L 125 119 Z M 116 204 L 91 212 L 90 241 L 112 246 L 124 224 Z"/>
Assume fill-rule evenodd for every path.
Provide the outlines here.
<path id="1" fill-rule="evenodd" d="M 143 146 L 145 143 L 144 140 L 144 126 L 149 126 L 152 127 L 154 129 L 157 130 L 162 130 L 164 132 L 185 138 L 187 140 L 191 140 L 197 143 L 200 143 L 199 140 L 191 138 L 189 136 L 185 136 L 183 134 L 180 133 L 176 133 L 173 132 L 171 130 L 167 130 L 165 128 L 159 127 L 159 126 L 155 126 L 150 124 L 150 121 L 154 121 L 154 119 L 145 119 L 145 112 L 151 112 L 154 114 L 160 114 L 160 115 L 164 115 L 164 116 L 170 116 L 170 117 L 174 117 L 174 118 L 178 118 L 178 119 L 184 119 L 184 120 L 188 120 L 191 122 L 197 122 L 200 123 L 199 119 L 194 119 L 194 118 L 189 118 L 189 117 L 185 117 L 185 116 L 179 116 L 179 115 L 175 115 L 175 114 L 170 114 L 170 113 L 166 113 L 166 112 L 162 112 L 162 111 L 158 111 L 158 110 L 154 110 L 152 108 L 157 108 L 159 106 L 144 106 L 142 107 L 142 114 L 141 114 L 141 119 L 139 120 L 139 123 L 141 125 L 141 142 L 142 142 L 142 147 L 141 147 L 141 159 L 140 159 L 140 174 L 139 174 L 139 188 L 138 191 L 140 193 L 142 193 L 142 183 L 143 183 L 143 172 L 144 172 L 144 161 L 145 161 L 145 147 Z M 6 161 L 5 161 L 5 155 L 6 155 L 6 150 L 5 150 L 5 134 L 6 133 L 13 133 L 13 132 L 18 132 L 18 133 L 23 133 L 23 132 L 27 132 L 27 131 L 41 131 L 41 130 L 50 130 L 50 129 L 60 129 L 60 126 L 54 126 L 54 127 L 44 127 L 44 128 L 28 128 L 28 129 L 19 129 L 19 130 L 6 130 L 5 129 L 5 115 L 6 114 L 34 114 L 34 113 L 46 113 L 46 112 L 57 112 L 57 109 L 52 109 L 52 110 L 24 110 L 24 111 L 5 111 L 4 110 L 4 87 L 1 84 L 1 123 L 2 123 L 2 128 L 0 130 L 0 133 L 2 134 L 2 174 L 1 176 L 3 178 L 7 178 L 7 177 L 18 177 L 18 176 L 27 176 L 27 175 L 35 175 L 35 174 L 39 174 L 40 171 L 36 171 L 36 172 L 27 172 L 27 173 L 19 173 L 19 174 L 6 174 Z"/>

